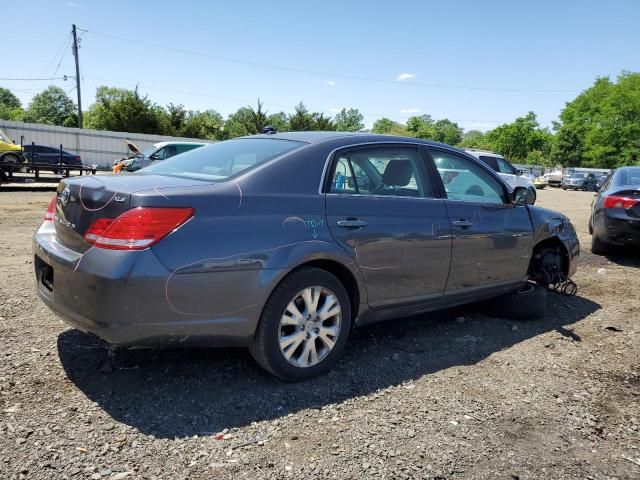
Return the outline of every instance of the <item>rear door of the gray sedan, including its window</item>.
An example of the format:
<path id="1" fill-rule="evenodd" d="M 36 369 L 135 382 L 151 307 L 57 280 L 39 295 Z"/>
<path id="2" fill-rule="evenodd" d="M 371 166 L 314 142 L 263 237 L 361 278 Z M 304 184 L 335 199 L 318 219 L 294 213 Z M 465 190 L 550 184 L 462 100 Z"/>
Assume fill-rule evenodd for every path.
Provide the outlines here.
<path id="1" fill-rule="evenodd" d="M 369 306 L 442 296 L 451 231 L 437 179 L 417 146 L 367 146 L 335 154 L 326 188 L 327 224 L 366 282 Z"/>

